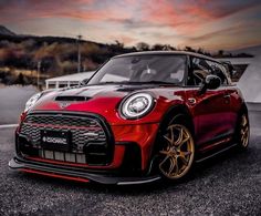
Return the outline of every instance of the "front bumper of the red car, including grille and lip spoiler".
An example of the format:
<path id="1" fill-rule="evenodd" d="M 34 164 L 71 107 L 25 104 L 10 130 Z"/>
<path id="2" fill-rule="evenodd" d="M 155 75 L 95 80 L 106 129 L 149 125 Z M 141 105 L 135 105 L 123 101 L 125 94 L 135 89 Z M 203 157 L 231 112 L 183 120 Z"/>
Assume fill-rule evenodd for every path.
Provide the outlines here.
<path id="1" fill-rule="evenodd" d="M 81 121 L 86 121 L 84 127 L 81 126 Z M 86 146 L 92 148 L 85 148 L 82 130 L 93 130 L 94 126 L 90 122 L 95 123 L 95 128 L 98 127 L 96 133 L 103 132 L 106 142 L 103 142 L 102 136 L 100 142 L 88 141 Z M 72 131 L 71 142 L 74 145 L 66 151 L 45 150 L 40 137 L 41 130 L 46 127 L 49 131 L 63 131 L 64 127 Z M 160 178 L 152 176 L 155 174 L 150 172 L 157 130 L 157 123 L 109 125 L 102 116 L 90 113 L 33 112 L 28 114 L 17 130 L 17 155 L 9 166 L 27 173 L 80 182 L 118 185 L 149 183 Z M 103 147 L 104 144 L 106 147 Z"/>

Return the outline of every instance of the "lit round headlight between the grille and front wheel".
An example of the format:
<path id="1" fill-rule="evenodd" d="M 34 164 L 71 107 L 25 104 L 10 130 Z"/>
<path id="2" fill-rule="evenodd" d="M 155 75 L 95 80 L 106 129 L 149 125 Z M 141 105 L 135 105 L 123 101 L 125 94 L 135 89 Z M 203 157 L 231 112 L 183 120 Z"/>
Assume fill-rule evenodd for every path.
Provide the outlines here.
<path id="1" fill-rule="evenodd" d="M 121 114 L 125 119 L 138 119 L 146 115 L 154 106 L 154 99 L 148 93 L 137 93 L 123 101 Z"/>

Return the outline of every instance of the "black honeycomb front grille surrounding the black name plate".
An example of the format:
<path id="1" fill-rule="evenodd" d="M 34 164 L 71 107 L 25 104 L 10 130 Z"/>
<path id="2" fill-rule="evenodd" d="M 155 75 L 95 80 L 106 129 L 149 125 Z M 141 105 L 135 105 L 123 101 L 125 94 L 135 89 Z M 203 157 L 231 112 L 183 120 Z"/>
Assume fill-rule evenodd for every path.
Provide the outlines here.
<path id="1" fill-rule="evenodd" d="M 72 113 L 32 113 L 20 128 L 20 141 L 28 142 L 31 148 L 39 150 L 39 157 L 56 161 L 107 164 L 112 158 L 112 142 L 105 123 L 93 115 Z M 41 133 L 70 132 L 69 152 L 48 151 L 41 145 Z M 46 154 L 45 154 L 46 153 Z M 84 158 L 85 157 L 85 158 Z"/>

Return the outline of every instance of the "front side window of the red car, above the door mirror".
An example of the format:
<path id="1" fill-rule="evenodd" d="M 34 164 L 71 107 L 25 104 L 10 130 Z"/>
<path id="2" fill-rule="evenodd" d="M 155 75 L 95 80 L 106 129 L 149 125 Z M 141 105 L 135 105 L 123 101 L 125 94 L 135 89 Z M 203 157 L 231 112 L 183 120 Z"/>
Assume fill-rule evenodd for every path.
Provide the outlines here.
<path id="1" fill-rule="evenodd" d="M 192 58 L 191 71 L 188 74 L 188 85 L 201 85 L 205 78 L 211 74 L 211 66 L 205 59 Z"/>

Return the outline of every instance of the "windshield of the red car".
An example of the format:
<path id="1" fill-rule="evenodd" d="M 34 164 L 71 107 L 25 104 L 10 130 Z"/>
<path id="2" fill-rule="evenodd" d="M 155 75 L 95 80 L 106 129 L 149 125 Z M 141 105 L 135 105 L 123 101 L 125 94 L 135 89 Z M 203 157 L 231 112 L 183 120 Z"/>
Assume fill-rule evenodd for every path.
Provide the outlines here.
<path id="1" fill-rule="evenodd" d="M 166 83 L 181 84 L 186 55 L 143 54 L 109 60 L 87 84 L 102 83 Z"/>

